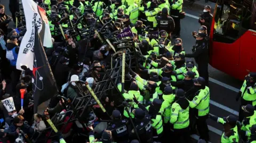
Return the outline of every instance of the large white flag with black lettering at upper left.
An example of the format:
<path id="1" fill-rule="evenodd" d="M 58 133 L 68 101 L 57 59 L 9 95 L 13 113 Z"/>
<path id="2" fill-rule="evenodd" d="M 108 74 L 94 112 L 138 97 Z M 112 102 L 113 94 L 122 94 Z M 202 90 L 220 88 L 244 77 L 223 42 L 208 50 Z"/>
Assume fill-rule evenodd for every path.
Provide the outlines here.
<path id="1" fill-rule="evenodd" d="M 33 0 L 22 0 L 24 14 L 26 18 L 27 31 L 22 38 L 19 54 L 17 58 L 16 68 L 22 70 L 21 66 L 26 65 L 27 68 L 33 70 L 34 63 L 34 41 L 35 41 L 35 25 L 39 35 L 42 33 L 42 43 L 45 47 L 51 47 L 52 41 L 49 23 L 45 22 L 45 17 L 41 17 L 42 8 L 39 7 Z M 41 8 L 41 9 L 40 9 Z M 38 11 L 40 10 L 40 12 Z M 43 29 L 43 30 L 42 30 Z M 42 30 L 42 31 L 41 31 Z M 46 32 L 45 32 L 46 31 Z M 50 35 L 49 35 L 50 34 Z M 44 38 L 47 37 L 47 38 Z M 36 48 L 36 47 L 35 47 Z"/>

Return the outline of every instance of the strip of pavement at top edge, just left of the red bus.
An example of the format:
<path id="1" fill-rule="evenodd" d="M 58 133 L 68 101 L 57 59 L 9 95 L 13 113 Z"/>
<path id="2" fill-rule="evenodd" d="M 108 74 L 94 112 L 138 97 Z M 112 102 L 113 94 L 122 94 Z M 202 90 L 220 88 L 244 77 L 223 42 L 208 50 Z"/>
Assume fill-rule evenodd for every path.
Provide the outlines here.
<path id="1" fill-rule="evenodd" d="M 215 8 L 215 4 L 216 3 L 213 3 L 213 2 L 208 2 L 208 3 L 205 3 L 204 0 L 195 0 L 194 4 L 193 5 L 189 5 L 189 2 L 188 0 L 185 0 L 184 1 L 184 6 L 185 7 L 193 7 L 193 8 L 198 8 L 198 9 L 202 9 L 203 10 L 203 7 L 205 5 L 210 5 L 211 6 L 211 11 L 213 12 L 214 11 L 214 8 Z"/>

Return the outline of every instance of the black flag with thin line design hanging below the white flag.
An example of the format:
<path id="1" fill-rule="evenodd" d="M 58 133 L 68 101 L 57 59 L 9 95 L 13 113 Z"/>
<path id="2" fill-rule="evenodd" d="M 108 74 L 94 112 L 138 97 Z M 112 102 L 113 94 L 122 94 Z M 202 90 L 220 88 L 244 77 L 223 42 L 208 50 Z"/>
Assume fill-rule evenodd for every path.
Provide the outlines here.
<path id="1" fill-rule="evenodd" d="M 33 95 L 34 113 L 43 114 L 50 99 L 58 95 L 58 88 L 47 60 L 40 36 L 35 28 Z"/>

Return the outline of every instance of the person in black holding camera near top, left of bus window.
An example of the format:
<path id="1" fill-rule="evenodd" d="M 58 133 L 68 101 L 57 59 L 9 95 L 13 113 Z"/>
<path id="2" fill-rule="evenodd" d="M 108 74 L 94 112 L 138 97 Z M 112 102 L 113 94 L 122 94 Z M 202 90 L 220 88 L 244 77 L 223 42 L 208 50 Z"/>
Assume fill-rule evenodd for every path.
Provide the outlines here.
<path id="1" fill-rule="evenodd" d="M 211 12 L 211 6 L 205 5 L 203 14 L 201 14 L 198 19 L 198 22 L 200 23 L 201 26 L 206 26 L 207 33 L 209 35 L 210 35 L 210 29 L 212 24 L 212 14 L 210 12 Z"/>

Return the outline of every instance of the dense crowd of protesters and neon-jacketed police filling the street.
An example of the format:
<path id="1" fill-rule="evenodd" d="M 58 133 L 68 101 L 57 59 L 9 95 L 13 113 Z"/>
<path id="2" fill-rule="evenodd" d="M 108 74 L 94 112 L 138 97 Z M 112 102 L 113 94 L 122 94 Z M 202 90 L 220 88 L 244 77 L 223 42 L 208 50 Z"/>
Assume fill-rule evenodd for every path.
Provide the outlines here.
<path id="1" fill-rule="evenodd" d="M 237 96 L 237 100 L 242 97 L 239 120 L 234 115 L 221 118 L 209 113 L 208 33 L 212 21 L 209 5 L 204 7 L 198 19 L 198 31 L 192 32 L 196 44 L 191 45 L 190 53 L 183 49 L 186 41 L 180 38 L 180 22 L 185 17 L 183 0 L 36 2 L 45 9 L 49 19 L 53 47 L 45 47 L 45 53 L 63 97 L 52 97 L 45 111 L 50 119 L 53 120 L 56 113 L 68 114 L 67 98 L 73 105 L 78 104 L 76 98 L 84 96 L 78 86 L 80 81 L 86 81 L 92 89 L 102 82 L 106 72 L 101 65 L 111 69 L 118 61 L 118 58 L 113 59 L 115 50 L 118 51 L 116 41 L 131 40 L 134 43 L 131 49 L 136 53 L 133 57 L 135 68 L 125 65 L 125 86 L 121 75 L 115 79 L 119 90 L 115 92 L 122 94 L 123 102 L 118 103 L 114 94 L 106 92 L 100 102 L 107 112 L 103 112 L 98 104 L 91 105 L 90 112 L 79 119 L 84 125 L 69 122 L 74 115 L 68 114 L 64 119 L 69 122 L 67 126 L 58 127 L 62 132 L 57 132 L 46 142 L 190 143 L 193 142 L 190 134 L 196 133 L 200 137 L 198 142 L 209 142 L 206 123 L 209 118 L 223 124 L 223 143 L 240 139 L 256 141 L 256 73 L 246 75 Z M 34 114 L 33 74 L 29 69 L 21 72 L 16 68 L 19 46 L 26 32 L 26 29 L 8 28 L 20 10 L 17 3 L 10 1 L 12 17 L 6 15 L 4 5 L 0 5 L 0 138 L 2 142 L 45 142 L 43 139 L 51 134 L 50 125 L 43 115 Z M 59 24 L 67 30 L 67 40 L 60 34 Z M 77 31 L 68 31 L 73 24 Z M 89 37 L 91 32 L 88 36 L 88 30 L 94 31 L 90 26 L 96 31 L 102 27 L 107 30 L 105 33 L 101 30 L 93 32 Z M 84 29 L 87 31 L 83 32 Z M 116 38 L 125 29 L 131 30 L 132 36 Z M 108 31 L 112 39 L 106 36 Z M 156 38 L 149 36 L 155 31 Z M 120 51 L 124 49 L 120 48 Z M 21 96 L 24 96 L 22 104 Z"/>

